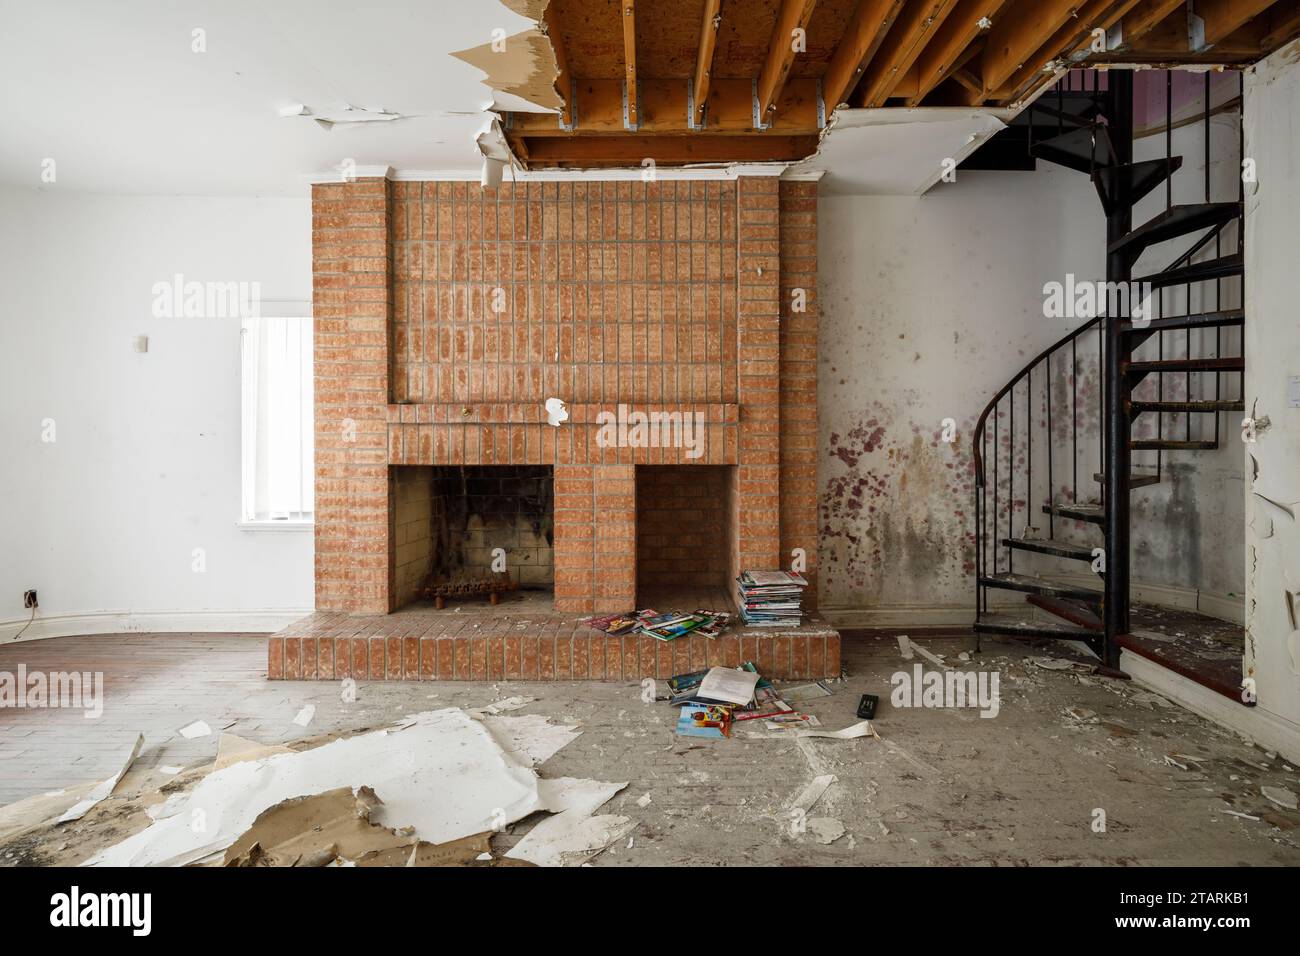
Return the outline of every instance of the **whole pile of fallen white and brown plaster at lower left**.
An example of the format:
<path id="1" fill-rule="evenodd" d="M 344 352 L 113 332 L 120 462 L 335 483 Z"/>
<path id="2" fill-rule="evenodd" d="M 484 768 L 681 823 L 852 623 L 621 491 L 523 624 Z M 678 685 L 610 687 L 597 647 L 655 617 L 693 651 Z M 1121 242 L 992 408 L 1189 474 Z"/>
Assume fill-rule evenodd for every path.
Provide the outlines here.
<path id="1" fill-rule="evenodd" d="M 87 799 L 69 793 L 75 813 L 49 795 L 30 812 L 5 808 L 0 839 L 20 838 L 57 865 L 581 864 L 633 829 L 595 814 L 627 784 L 540 777 L 536 767 L 581 731 L 500 713 L 526 702 L 424 711 L 299 749 L 222 735 L 214 762 L 161 786 L 114 793 L 118 774 Z M 540 812 L 551 816 L 493 855 L 494 834 Z"/>

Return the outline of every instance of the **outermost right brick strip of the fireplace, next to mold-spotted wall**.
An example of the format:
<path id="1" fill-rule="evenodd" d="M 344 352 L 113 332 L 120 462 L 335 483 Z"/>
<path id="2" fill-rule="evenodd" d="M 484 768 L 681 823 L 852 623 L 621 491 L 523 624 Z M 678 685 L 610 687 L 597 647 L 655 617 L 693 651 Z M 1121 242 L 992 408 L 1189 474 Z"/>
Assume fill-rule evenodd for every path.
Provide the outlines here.
<path id="1" fill-rule="evenodd" d="M 816 183 L 780 185 L 781 555 L 807 555 L 803 602 L 816 607 Z M 788 564 L 786 564 L 788 566 Z"/>

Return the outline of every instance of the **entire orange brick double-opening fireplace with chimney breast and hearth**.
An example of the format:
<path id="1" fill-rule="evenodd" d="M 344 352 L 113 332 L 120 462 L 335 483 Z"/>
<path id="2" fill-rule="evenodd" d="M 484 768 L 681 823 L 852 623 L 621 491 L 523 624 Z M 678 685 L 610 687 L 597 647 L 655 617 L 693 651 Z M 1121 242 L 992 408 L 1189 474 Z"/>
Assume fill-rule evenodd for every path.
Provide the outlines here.
<path id="1" fill-rule="evenodd" d="M 488 524 L 482 514 L 474 529 L 456 524 L 465 505 L 452 515 L 448 485 L 473 484 L 471 510 L 515 536 L 503 545 L 512 576 L 547 592 L 543 610 L 573 624 L 575 641 L 588 636 L 581 615 L 671 597 L 684 581 L 725 594 L 740 568 L 789 567 L 794 549 L 815 605 L 815 183 L 317 185 L 312 248 L 317 613 L 272 639 L 272 676 L 339 676 L 344 658 L 367 676 L 439 672 L 438 649 L 430 669 L 420 643 L 437 641 L 446 613 L 415 617 L 412 601 L 446 557 L 439 538 L 455 538 L 462 566 L 481 567 L 476 531 Z M 554 425 L 546 403 L 556 398 L 568 418 Z M 699 427 L 689 446 L 638 442 L 634 428 L 610 442 L 619 406 Z M 545 515 L 489 503 L 511 497 L 515 475 L 551 481 Z M 524 555 L 530 563 L 515 561 Z M 485 620 L 497 618 L 510 613 Z M 789 645 L 786 670 L 837 674 L 838 636 L 814 631 L 816 663 Z M 796 637 L 811 640 L 754 640 L 775 653 Z M 701 653 L 744 652 L 741 635 L 715 644 Z M 494 670 L 484 649 L 484 676 L 508 676 L 500 650 Z M 575 646 L 566 652 L 576 676 Z M 628 666 L 620 645 L 618 674 L 606 665 L 582 676 L 637 676 L 641 657 Z M 472 645 L 463 671 L 455 650 L 448 661 L 446 675 L 476 676 Z"/>

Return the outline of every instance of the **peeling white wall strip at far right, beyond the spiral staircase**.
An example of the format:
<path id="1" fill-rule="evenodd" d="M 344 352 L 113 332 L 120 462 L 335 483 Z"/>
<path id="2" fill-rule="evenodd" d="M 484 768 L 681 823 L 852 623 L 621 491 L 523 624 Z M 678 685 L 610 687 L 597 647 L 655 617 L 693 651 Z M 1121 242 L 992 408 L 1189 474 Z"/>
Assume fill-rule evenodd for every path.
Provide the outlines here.
<path id="1" fill-rule="evenodd" d="M 1300 376 L 1300 43 L 1247 73 L 1247 408 L 1270 427 L 1245 446 L 1245 674 L 1258 709 L 1300 735 L 1300 408 L 1287 381 Z M 1261 497 L 1262 496 L 1262 497 Z M 1277 503 L 1270 503 L 1277 502 Z M 1280 505 L 1280 507 L 1279 507 Z M 1288 610 L 1288 602 L 1291 610 Z"/>

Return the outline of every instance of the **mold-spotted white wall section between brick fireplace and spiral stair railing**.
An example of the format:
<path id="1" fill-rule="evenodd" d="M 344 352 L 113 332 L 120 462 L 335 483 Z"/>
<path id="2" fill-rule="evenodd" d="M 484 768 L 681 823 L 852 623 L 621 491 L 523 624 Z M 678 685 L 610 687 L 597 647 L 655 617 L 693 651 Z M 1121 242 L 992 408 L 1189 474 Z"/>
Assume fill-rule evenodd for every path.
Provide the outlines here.
<path id="1" fill-rule="evenodd" d="M 1044 317 L 1043 285 L 1102 273 L 1101 206 L 1086 176 L 1040 165 L 958 172 L 923 196 L 827 195 L 818 220 L 823 609 L 845 626 L 966 622 L 975 421 L 1078 324 Z"/>

